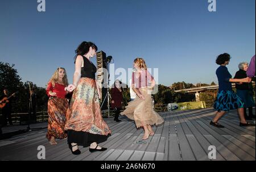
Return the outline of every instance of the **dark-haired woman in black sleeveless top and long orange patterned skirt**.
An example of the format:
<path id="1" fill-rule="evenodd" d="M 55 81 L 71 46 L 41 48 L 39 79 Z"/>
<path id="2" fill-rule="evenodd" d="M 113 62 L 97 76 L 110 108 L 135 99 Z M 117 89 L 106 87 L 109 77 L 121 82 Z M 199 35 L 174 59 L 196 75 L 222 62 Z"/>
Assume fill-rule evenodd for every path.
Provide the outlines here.
<path id="1" fill-rule="evenodd" d="M 68 145 L 73 154 L 80 154 L 78 145 L 90 146 L 90 152 L 104 151 L 98 143 L 108 139 L 111 131 L 102 119 L 100 108 L 100 87 L 95 81 L 96 66 L 90 58 L 96 55 L 97 46 L 82 42 L 76 50 L 73 84 L 65 89 L 73 91 L 65 129 L 68 131 Z"/>

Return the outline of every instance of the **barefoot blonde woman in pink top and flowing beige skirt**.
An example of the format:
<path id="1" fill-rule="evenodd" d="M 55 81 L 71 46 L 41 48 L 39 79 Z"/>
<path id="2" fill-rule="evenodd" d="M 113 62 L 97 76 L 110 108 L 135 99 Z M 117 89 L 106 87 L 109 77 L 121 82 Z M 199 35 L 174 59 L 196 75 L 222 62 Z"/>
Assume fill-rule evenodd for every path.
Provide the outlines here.
<path id="1" fill-rule="evenodd" d="M 136 93 L 135 100 L 128 103 L 126 110 L 121 115 L 126 115 L 135 121 L 136 127 L 143 127 L 143 140 L 154 135 L 151 125 L 159 125 L 164 119 L 152 108 L 151 93 L 155 86 L 155 79 L 147 71 L 147 66 L 143 58 L 136 58 L 133 64 L 136 69 L 132 75 L 131 87 Z M 148 86 L 150 84 L 150 86 Z"/>

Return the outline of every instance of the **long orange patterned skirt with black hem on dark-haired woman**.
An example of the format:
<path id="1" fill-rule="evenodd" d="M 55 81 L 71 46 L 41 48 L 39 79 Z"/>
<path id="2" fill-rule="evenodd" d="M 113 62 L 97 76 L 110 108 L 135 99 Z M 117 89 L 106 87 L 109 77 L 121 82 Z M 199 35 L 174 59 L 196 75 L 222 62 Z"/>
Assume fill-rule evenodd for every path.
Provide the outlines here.
<path id="1" fill-rule="evenodd" d="M 81 78 L 73 92 L 67 112 L 65 129 L 68 142 L 89 146 L 92 142 L 104 142 L 111 131 L 102 119 L 100 99 L 94 79 Z"/>

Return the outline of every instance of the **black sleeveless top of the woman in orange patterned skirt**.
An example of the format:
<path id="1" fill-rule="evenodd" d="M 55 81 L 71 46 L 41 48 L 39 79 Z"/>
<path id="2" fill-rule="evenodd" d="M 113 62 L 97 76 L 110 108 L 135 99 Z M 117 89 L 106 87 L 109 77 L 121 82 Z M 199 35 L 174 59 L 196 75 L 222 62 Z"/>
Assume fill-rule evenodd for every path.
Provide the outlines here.
<path id="1" fill-rule="evenodd" d="M 85 56 L 82 56 L 82 58 L 84 59 L 84 67 L 81 68 L 81 78 L 95 79 L 95 73 L 97 72 L 96 66 Z"/>

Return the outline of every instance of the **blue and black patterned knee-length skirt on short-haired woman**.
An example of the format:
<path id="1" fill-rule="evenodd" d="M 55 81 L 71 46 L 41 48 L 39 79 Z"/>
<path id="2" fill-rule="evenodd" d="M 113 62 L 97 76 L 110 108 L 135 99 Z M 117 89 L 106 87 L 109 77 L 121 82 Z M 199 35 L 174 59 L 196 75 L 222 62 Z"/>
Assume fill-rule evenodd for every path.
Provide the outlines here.
<path id="1" fill-rule="evenodd" d="M 213 107 L 217 111 L 229 111 L 243 108 L 243 104 L 242 99 L 233 90 L 221 90 L 218 92 Z"/>

